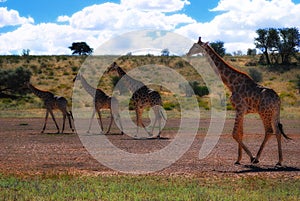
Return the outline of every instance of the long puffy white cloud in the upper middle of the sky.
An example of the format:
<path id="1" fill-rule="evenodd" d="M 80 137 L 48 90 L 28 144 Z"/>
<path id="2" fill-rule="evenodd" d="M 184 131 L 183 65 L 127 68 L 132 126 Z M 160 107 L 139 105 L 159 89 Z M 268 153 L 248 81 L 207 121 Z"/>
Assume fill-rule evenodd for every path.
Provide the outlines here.
<path id="1" fill-rule="evenodd" d="M 138 1 L 139 2 L 139 1 Z M 158 11 L 142 11 L 126 7 L 123 4 L 104 3 L 84 8 L 74 13 L 68 20 L 70 25 L 78 29 L 120 30 L 155 28 L 171 30 L 178 25 L 195 22 L 185 14 L 165 15 Z"/>

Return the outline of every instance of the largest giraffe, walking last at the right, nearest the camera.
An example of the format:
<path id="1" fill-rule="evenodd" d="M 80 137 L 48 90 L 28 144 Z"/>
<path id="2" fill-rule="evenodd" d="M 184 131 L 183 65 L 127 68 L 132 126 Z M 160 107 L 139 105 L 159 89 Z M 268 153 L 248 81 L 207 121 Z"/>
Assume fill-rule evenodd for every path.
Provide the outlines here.
<path id="1" fill-rule="evenodd" d="M 230 101 L 236 112 L 232 135 L 238 143 L 238 158 L 235 164 L 240 164 L 242 150 L 247 153 L 252 163 L 258 163 L 266 142 L 272 134 L 275 134 L 279 158 L 276 165 L 281 166 L 283 160 L 281 135 L 289 140 L 291 138 L 283 132 L 283 127 L 280 123 L 280 98 L 277 93 L 273 89 L 257 84 L 246 73 L 238 71 L 226 63 L 213 48 L 209 46 L 208 42 L 204 43 L 201 41 L 201 37 L 199 37 L 198 42 L 194 43 L 190 48 L 187 56 L 198 53 L 204 53 L 208 56 L 208 61 L 214 64 L 212 66 L 215 66 L 215 72 L 232 93 Z M 264 140 L 255 157 L 242 141 L 244 115 L 248 113 L 258 113 L 265 128 Z"/>

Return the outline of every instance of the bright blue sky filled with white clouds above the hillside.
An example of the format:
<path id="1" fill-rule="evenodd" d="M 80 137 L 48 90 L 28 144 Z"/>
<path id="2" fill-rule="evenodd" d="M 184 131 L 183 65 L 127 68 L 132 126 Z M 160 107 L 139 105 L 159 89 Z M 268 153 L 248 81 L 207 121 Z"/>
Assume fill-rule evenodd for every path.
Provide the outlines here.
<path id="1" fill-rule="evenodd" d="M 70 54 L 133 30 L 160 29 L 191 40 L 253 48 L 255 30 L 300 28 L 300 0 L 0 0 L 0 54 Z"/>

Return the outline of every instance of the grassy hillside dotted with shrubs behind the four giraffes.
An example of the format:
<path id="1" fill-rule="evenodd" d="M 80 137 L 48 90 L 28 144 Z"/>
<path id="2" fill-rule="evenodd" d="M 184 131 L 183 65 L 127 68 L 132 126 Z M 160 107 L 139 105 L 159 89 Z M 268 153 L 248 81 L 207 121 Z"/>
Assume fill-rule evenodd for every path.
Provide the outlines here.
<path id="1" fill-rule="evenodd" d="M 103 56 L 100 59 L 104 59 Z M 292 64 L 273 64 L 262 65 L 259 63 L 261 55 L 248 56 L 225 56 L 224 59 L 237 69 L 249 73 L 252 78 L 260 84 L 273 88 L 282 99 L 283 114 L 289 117 L 295 117 L 299 114 L 298 108 L 300 105 L 299 98 L 299 77 L 300 67 L 299 62 L 293 59 Z M 0 73 L 1 76 L 0 89 L 2 98 L 0 98 L 1 116 L 9 116 L 13 111 L 37 110 L 42 107 L 42 102 L 33 94 L 26 93 L 22 88 L 23 82 L 29 77 L 31 82 L 37 87 L 49 90 L 57 95 L 65 96 L 71 104 L 73 91 L 73 78 L 78 70 L 85 63 L 87 56 L 1 56 L 0 57 Z M 205 59 L 203 59 L 205 60 Z M 86 61 L 87 62 L 87 61 Z M 93 62 L 89 60 L 88 62 Z M 161 65 L 167 66 L 180 75 L 182 75 L 190 84 L 199 101 L 199 106 L 202 109 L 210 108 L 209 91 L 205 86 L 201 76 L 196 70 L 181 57 L 175 56 L 123 56 L 117 59 L 117 62 L 126 71 L 143 65 Z M 203 61 L 205 62 L 205 61 Z M 18 75 L 18 72 L 22 75 Z M 96 69 L 91 70 L 96 71 Z M 9 73 L 7 73 L 9 72 Z M 9 75 L 15 76 L 12 86 L 15 86 L 15 91 L 9 90 L 6 93 L 4 89 L 8 89 L 7 82 Z M 18 84 L 15 84 L 19 80 Z M 113 86 L 117 82 L 116 74 L 104 73 L 102 79 L 99 80 L 99 87 L 107 94 L 111 94 Z M 181 83 L 179 83 L 180 85 Z M 176 97 L 168 89 L 159 86 L 153 86 L 154 89 L 160 91 L 164 100 L 166 110 L 179 110 L 179 104 Z M 190 96 L 191 92 L 185 90 L 185 86 L 181 88 L 182 96 Z M 5 96 L 6 94 L 8 96 Z M 229 96 L 229 92 L 227 93 Z M 228 102 L 228 101 L 227 101 Z M 230 103 L 227 103 L 227 109 L 231 110 Z M 40 114 L 37 114 L 38 116 Z"/>

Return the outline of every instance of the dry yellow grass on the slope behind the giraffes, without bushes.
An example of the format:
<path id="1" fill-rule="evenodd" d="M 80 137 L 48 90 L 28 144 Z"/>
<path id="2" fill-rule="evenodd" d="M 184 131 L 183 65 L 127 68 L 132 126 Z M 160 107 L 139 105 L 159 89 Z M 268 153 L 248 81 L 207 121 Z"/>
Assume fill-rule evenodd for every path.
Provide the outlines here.
<path id="1" fill-rule="evenodd" d="M 284 67 L 280 67 L 279 70 L 272 70 L 272 67 L 245 66 L 249 61 L 257 61 L 257 58 L 258 56 L 239 56 L 225 57 L 225 60 L 243 72 L 249 72 L 250 68 L 255 68 L 262 73 L 263 81 L 261 84 L 273 88 L 281 96 L 283 114 L 285 115 L 285 111 L 287 111 L 287 116 L 299 116 L 298 111 L 294 110 L 294 108 L 297 109 L 300 106 L 300 97 L 298 89 L 296 88 L 297 75 L 300 75 L 299 66 L 288 71 L 282 70 Z M 88 57 L 88 59 L 85 56 L 1 56 L 0 67 L 6 69 L 13 69 L 20 66 L 28 68 L 33 73 L 31 82 L 35 86 L 66 97 L 71 105 L 73 93 L 72 80 L 77 72 L 79 70 L 88 70 L 91 76 L 95 77 L 95 75 L 99 73 L 98 71 L 100 68 L 103 70 L 103 66 L 99 65 L 99 61 L 103 62 L 110 59 L 109 56 Z M 201 85 L 204 85 L 201 76 L 181 57 L 123 56 L 117 58 L 117 63 L 122 66 L 125 71 L 151 64 L 170 67 L 182 75 L 186 80 L 198 81 Z M 274 69 L 275 68 L 276 67 L 274 67 Z M 104 73 L 101 80 L 98 82 L 98 87 L 109 95 L 112 94 L 113 85 L 111 80 L 113 76 L 116 76 L 116 74 Z M 170 106 L 170 104 L 178 105 L 176 97 L 174 97 L 174 95 L 166 88 L 159 88 L 158 86 L 154 86 L 153 88 L 161 92 L 163 100 L 168 106 Z M 229 91 L 227 91 L 227 94 L 230 94 Z M 184 93 L 182 93 L 182 95 L 184 95 Z M 208 107 L 205 102 L 207 101 L 202 101 L 200 105 Z M 0 108 L 6 110 L 40 107 L 42 107 L 41 101 L 33 94 L 29 94 L 25 101 L 0 100 Z M 230 106 L 228 108 L 230 108 Z"/>

